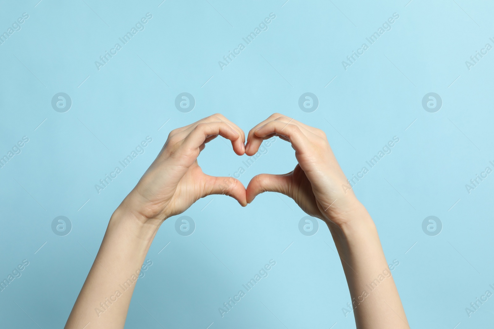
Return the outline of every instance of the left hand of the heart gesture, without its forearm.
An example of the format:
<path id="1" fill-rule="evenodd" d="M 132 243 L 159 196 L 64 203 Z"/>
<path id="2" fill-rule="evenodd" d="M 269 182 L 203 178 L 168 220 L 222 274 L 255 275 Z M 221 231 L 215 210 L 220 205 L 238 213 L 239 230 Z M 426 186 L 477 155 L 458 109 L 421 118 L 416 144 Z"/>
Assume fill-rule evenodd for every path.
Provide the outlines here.
<path id="1" fill-rule="evenodd" d="M 244 132 L 221 114 L 174 129 L 121 206 L 139 219 L 158 224 L 183 213 L 198 199 L 210 194 L 226 194 L 247 206 L 246 189 L 239 180 L 209 176 L 199 167 L 199 153 L 218 135 L 232 142 L 235 153 L 245 153 Z"/>

